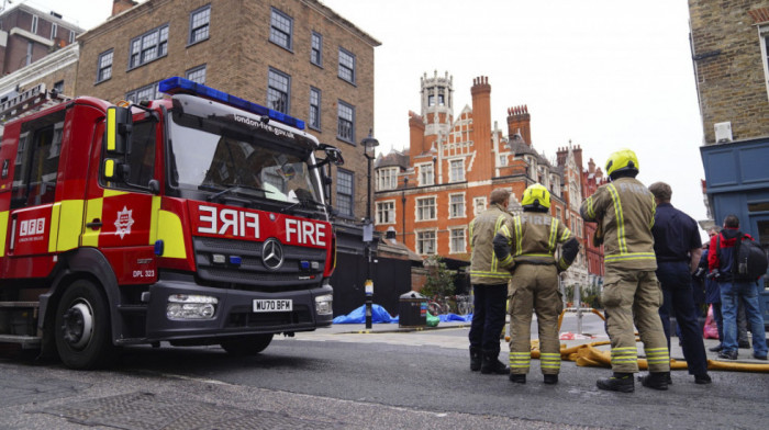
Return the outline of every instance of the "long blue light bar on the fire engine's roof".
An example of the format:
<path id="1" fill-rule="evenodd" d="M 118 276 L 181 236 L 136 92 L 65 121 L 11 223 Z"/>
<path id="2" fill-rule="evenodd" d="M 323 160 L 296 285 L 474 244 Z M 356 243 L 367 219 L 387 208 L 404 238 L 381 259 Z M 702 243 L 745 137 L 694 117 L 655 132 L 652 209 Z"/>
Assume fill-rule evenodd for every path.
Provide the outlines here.
<path id="1" fill-rule="evenodd" d="M 293 116 L 289 116 L 282 112 L 274 111 L 269 108 L 265 108 L 260 104 L 252 103 L 247 100 L 243 100 L 232 94 L 227 94 L 224 91 L 214 90 L 213 88 L 205 87 L 203 84 L 192 82 L 189 79 L 174 77 L 160 81 L 159 84 L 160 92 L 166 94 L 193 94 L 199 95 L 209 100 L 222 102 L 231 106 L 242 109 L 244 111 L 255 113 L 257 115 L 267 115 L 270 120 L 290 125 L 292 127 L 304 129 L 304 121 L 297 120 Z"/>

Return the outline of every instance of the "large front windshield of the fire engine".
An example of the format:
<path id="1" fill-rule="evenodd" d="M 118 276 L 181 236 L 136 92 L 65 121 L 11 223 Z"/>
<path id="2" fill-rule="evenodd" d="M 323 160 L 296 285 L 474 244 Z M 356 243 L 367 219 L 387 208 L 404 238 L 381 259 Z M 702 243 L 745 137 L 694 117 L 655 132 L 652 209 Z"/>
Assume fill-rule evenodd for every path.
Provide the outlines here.
<path id="1" fill-rule="evenodd" d="M 172 185 L 322 208 L 317 169 L 310 168 L 314 145 L 305 137 L 192 97 L 175 97 L 171 117 Z"/>

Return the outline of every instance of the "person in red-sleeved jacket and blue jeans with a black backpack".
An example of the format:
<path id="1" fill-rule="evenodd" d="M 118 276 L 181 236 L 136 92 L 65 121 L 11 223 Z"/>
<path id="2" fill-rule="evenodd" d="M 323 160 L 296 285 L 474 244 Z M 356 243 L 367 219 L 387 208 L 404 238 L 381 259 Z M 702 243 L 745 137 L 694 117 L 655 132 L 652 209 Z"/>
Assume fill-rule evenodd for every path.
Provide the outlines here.
<path id="1" fill-rule="evenodd" d="M 735 251 L 737 239 L 753 240 L 750 235 L 739 231 L 739 218 L 727 215 L 721 233 L 711 238 L 707 254 L 707 269 L 718 283 L 721 290 L 721 314 L 724 318 L 723 349 L 718 358 L 737 360 L 737 306 L 743 301 L 748 326 L 753 332 L 753 357 L 757 360 L 767 359 L 767 339 L 764 317 L 758 305 L 758 280 L 743 280 L 735 276 Z"/>

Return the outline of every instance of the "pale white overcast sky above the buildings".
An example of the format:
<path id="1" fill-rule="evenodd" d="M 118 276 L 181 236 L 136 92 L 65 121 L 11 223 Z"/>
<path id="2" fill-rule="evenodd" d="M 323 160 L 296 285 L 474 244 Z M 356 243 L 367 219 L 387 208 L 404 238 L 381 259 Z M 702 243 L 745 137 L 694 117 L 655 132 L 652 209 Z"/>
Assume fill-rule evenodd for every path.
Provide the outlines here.
<path id="1" fill-rule="evenodd" d="M 408 147 L 423 73 L 454 77 L 455 116 L 471 104 L 472 79 L 488 76 L 492 123 L 505 133 L 508 108 L 526 104 L 534 147 L 548 159 L 569 140 L 582 147 L 586 165 L 632 148 L 638 179 L 670 183 L 673 205 L 705 218 L 686 1 L 321 1 L 382 43 L 374 134 L 383 151 Z M 112 10 L 112 0 L 25 2 L 83 29 Z"/>

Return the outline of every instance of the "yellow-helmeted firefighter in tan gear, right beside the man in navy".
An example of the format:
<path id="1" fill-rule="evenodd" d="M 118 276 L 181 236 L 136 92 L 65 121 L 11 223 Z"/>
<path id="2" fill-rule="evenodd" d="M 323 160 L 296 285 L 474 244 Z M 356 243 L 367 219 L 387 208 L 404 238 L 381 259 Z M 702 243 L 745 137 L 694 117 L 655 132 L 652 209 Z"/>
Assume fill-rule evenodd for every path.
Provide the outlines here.
<path id="1" fill-rule="evenodd" d="M 611 377 L 598 380 L 600 389 L 632 393 L 633 374 L 638 372 L 635 327 L 650 374 L 664 380 L 670 372 L 670 357 L 659 306 L 662 292 L 655 271 L 655 201 L 651 192 L 636 180 L 638 158 L 629 149 L 613 152 L 606 162 L 610 183 L 601 185 L 582 202 L 587 222 L 598 222 L 603 231 L 604 285 L 601 295 L 606 314 L 606 331 L 612 343 Z M 598 238 L 599 240 L 601 238 Z M 662 389 L 664 384 L 656 387 Z"/>

